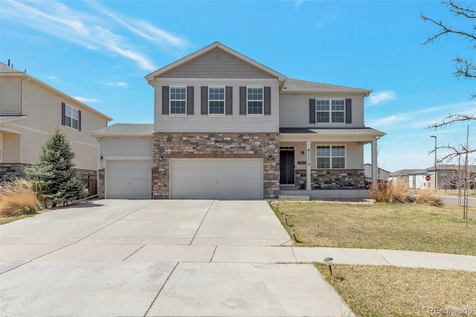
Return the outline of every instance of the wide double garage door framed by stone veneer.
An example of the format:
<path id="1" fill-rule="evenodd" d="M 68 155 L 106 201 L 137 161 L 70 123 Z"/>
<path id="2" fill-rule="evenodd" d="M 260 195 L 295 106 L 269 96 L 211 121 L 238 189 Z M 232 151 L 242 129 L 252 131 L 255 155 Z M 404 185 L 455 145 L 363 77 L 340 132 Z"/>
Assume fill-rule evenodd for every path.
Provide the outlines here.
<path id="1" fill-rule="evenodd" d="M 263 198 L 261 158 L 170 160 L 170 198 Z"/>

